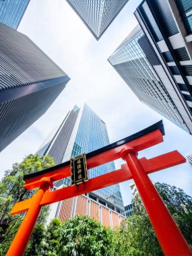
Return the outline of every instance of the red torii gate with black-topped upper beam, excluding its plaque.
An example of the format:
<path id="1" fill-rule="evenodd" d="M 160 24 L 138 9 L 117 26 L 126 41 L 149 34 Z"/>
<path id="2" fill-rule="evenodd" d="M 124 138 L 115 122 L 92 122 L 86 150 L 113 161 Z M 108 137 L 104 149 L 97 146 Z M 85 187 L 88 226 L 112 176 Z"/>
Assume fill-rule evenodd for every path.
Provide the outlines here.
<path id="1" fill-rule="evenodd" d="M 192 255 L 191 249 L 185 241 L 183 234 L 181 234 L 177 224 L 172 219 L 172 216 L 148 177 L 148 174 L 152 172 L 186 162 L 185 158 L 177 151 L 172 151 L 148 160 L 146 158 L 137 158 L 138 151 L 162 142 L 163 135 L 164 127 L 162 121 L 160 121 L 125 139 L 86 154 L 88 169 L 119 158 L 123 158 L 127 164 L 121 165 L 121 169 L 119 170 L 100 175 L 78 186 L 63 187 L 56 191 L 51 191 L 50 189 L 53 187 L 54 181 L 70 176 L 71 169 L 69 161 L 24 176 L 24 187 L 26 189 L 35 189 L 37 187 L 39 189 L 31 199 L 16 203 L 11 210 L 11 215 L 26 211 L 27 214 L 24 216 L 24 220 L 7 251 L 7 256 L 24 255 L 42 206 L 130 179 L 133 179 L 137 186 L 162 251 L 164 251 L 164 255 Z"/>

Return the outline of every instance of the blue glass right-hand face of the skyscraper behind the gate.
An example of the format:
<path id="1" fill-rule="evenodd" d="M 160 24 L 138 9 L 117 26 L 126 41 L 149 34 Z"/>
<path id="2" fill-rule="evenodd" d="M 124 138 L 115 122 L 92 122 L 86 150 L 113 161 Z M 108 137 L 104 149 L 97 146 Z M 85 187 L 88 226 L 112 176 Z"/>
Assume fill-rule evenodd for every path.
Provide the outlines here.
<path id="1" fill-rule="evenodd" d="M 84 152 L 89 153 L 94 150 L 98 150 L 109 143 L 105 123 L 88 105 L 85 104 L 75 137 L 75 142 L 73 144 L 71 157 Z M 91 179 L 113 170 L 115 170 L 115 164 L 114 162 L 109 162 L 102 166 L 90 169 L 89 178 Z M 94 193 L 103 199 L 106 199 L 106 201 L 123 208 L 123 200 L 119 184 L 94 191 Z"/>

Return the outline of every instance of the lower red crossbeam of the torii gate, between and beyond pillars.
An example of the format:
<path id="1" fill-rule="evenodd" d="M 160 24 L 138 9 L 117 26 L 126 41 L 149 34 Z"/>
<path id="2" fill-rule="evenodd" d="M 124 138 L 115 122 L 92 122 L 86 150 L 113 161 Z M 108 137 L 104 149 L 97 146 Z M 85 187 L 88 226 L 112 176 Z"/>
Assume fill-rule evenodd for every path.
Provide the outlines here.
<path id="1" fill-rule="evenodd" d="M 177 164 L 182 164 L 186 162 L 186 159 L 177 152 L 177 150 L 163 154 L 161 156 L 156 156 L 147 160 L 146 158 L 141 158 L 139 160 L 144 170 L 147 173 L 156 172 L 157 170 L 162 170 Z M 103 187 L 108 187 L 110 185 L 115 185 L 123 181 L 128 181 L 133 179 L 127 164 L 123 164 L 121 169 L 115 170 L 113 172 L 108 172 L 107 174 L 100 175 L 96 178 L 90 179 L 85 184 L 79 184 L 76 186 L 63 187 L 63 189 L 57 189 L 55 191 L 46 191 L 42 197 L 40 205 L 48 205 L 50 203 L 55 203 L 57 201 L 62 201 L 70 197 L 75 197 L 76 195 L 82 195 L 97 189 L 102 189 Z M 11 210 L 11 215 L 26 212 L 32 203 L 32 199 L 27 199 L 26 201 L 21 201 L 16 203 Z"/>

